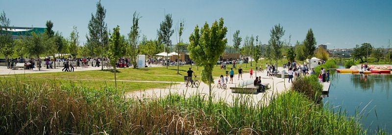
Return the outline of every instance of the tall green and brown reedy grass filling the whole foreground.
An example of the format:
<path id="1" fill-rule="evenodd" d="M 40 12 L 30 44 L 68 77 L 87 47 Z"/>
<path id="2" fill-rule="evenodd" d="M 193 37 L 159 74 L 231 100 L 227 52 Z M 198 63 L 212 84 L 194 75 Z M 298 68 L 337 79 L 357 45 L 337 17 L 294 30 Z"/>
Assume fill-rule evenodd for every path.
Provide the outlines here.
<path id="1" fill-rule="evenodd" d="M 96 90 L 55 83 L 0 80 L 3 134 L 364 134 L 356 118 L 330 112 L 290 91 L 251 105 L 249 96 L 231 104 L 201 95 L 170 94 L 128 99 L 110 87 Z"/>

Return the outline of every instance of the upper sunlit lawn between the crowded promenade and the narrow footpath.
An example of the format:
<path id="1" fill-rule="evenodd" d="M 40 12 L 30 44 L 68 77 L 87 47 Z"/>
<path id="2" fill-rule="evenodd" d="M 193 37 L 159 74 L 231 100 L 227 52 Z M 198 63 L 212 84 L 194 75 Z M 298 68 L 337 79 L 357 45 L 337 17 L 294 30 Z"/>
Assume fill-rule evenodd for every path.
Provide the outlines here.
<path id="1" fill-rule="evenodd" d="M 263 60 L 263 67 L 267 60 Z M 283 60 L 287 62 L 287 60 Z M 282 65 L 281 61 L 278 61 L 278 65 Z M 238 73 L 238 68 L 242 67 L 245 73 L 248 73 L 250 68 L 255 70 L 255 62 L 253 62 L 252 67 L 249 64 L 239 64 L 237 69 L 233 69 L 235 73 Z M 184 81 L 186 71 L 189 69 L 189 65 L 180 66 L 179 74 L 177 74 L 177 67 L 170 66 L 168 69 L 166 67 L 148 67 L 148 68 L 121 68 L 118 69 L 117 73 L 118 80 L 143 80 L 143 81 L 172 81 L 172 82 L 182 82 Z M 232 65 L 227 65 L 226 70 L 230 70 Z M 260 67 L 260 61 L 258 63 Z M 80 68 L 80 67 L 79 67 Z M 200 76 L 203 67 L 192 66 L 192 70 L 195 71 L 197 76 Z M 225 75 L 225 70 L 221 69 L 220 66 L 216 66 L 213 70 L 213 76 L 219 77 Z M 4 75 L 4 76 L 15 76 L 15 75 Z M 30 73 L 30 74 L 17 74 L 16 76 L 28 77 L 28 78 L 68 78 L 68 79 L 114 79 L 114 73 L 110 70 L 91 70 L 91 71 L 77 71 L 77 72 L 49 72 L 49 73 Z"/>

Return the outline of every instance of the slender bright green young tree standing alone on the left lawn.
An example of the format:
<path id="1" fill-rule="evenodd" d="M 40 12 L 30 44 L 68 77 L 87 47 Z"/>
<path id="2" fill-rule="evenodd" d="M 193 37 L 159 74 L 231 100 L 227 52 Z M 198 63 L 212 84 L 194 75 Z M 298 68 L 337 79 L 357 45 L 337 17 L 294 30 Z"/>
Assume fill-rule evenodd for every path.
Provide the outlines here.
<path id="1" fill-rule="evenodd" d="M 111 34 L 110 42 L 109 42 L 109 58 L 110 64 L 114 67 L 114 81 L 117 92 L 117 76 L 116 76 L 116 62 L 119 58 L 123 57 L 125 53 L 125 40 L 123 36 L 120 35 L 120 26 L 117 25 L 116 28 L 113 28 L 113 34 Z"/>

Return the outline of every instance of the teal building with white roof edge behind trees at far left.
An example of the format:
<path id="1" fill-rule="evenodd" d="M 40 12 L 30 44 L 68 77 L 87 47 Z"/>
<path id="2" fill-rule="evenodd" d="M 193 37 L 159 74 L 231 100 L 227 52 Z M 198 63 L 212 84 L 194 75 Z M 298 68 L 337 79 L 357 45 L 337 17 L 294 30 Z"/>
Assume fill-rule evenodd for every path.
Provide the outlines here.
<path id="1" fill-rule="evenodd" d="M 37 34 L 42 34 L 45 32 L 46 28 L 38 27 L 8 27 L 7 29 L 2 28 L 1 30 L 7 31 L 12 35 L 13 39 L 18 39 L 19 36 L 29 36 L 32 32 Z"/>

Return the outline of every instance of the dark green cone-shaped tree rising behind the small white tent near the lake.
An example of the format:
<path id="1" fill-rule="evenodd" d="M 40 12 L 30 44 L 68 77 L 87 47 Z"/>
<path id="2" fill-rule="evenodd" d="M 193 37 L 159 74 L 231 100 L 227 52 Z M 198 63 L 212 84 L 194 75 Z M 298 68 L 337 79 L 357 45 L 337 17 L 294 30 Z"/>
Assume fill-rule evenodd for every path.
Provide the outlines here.
<path id="1" fill-rule="evenodd" d="M 312 28 L 308 30 L 308 33 L 306 34 L 306 38 L 303 44 L 304 44 L 303 52 L 305 54 L 305 57 L 309 59 L 308 63 L 310 63 L 310 59 L 313 57 L 315 53 L 316 44 L 317 44 Z"/>

